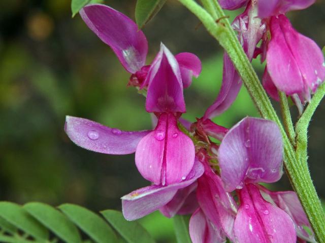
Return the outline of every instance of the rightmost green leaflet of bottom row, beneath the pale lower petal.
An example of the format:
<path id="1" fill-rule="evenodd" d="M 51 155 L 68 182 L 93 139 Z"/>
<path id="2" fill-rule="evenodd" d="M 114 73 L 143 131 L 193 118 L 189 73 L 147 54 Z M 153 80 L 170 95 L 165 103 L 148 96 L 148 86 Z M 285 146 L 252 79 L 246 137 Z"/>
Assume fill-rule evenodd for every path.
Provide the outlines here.
<path id="1" fill-rule="evenodd" d="M 101 212 L 104 218 L 128 243 L 153 243 L 150 234 L 136 221 L 126 221 L 121 212 L 105 210 Z"/>

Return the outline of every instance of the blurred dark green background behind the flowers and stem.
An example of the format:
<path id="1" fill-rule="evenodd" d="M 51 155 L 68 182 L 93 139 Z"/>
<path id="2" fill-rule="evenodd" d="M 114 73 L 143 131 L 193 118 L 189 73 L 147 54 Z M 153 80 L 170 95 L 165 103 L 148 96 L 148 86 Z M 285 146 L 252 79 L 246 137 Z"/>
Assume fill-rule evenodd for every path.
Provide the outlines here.
<path id="1" fill-rule="evenodd" d="M 104 1 L 134 19 L 136 1 Z M 151 128 L 145 99 L 126 87 L 129 74 L 108 46 L 71 18 L 70 0 L 0 2 L 0 199 L 19 204 L 75 203 L 93 211 L 120 209 L 120 197 L 148 185 L 137 172 L 134 155 L 114 156 L 84 150 L 63 131 L 66 115 L 92 119 L 123 130 Z M 237 12 L 229 12 L 233 19 Z M 325 46 L 325 3 L 289 15 L 294 27 Z M 194 120 L 218 94 L 222 50 L 199 21 L 177 1 L 168 1 L 144 28 L 150 63 L 163 42 L 174 54 L 192 52 L 203 71 L 185 90 Z M 254 66 L 259 74 L 263 65 Z M 278 108 L 278 104 L 275 104 Z M 291 108 L 297 116 L 295 107 Z M 309 168 L 325 198 L 325 104 L 309 129 Z M 244 116 L 258 116 L 242 88 L 234 105 L 216 123 L 231 127 Z M 287 190 L 286 176 L 273 189 Z M 159 213 L 141 223 L 160 241 L 173 242 L 173 225 Z"/>

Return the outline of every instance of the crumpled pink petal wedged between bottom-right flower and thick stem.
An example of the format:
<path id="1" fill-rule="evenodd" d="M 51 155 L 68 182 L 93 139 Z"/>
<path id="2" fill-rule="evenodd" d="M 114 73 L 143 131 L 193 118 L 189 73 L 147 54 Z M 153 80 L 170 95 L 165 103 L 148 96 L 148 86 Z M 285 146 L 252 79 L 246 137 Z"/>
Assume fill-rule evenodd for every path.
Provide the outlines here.
<path id="1" fill-rule="evenodd" d="M 308 218 L 305 214 L 303 207 L 298 199 L 296 192 L 294 191 L 269 191 L 265 187 L 259 185 L 259 189 L 262 190 L 262 195 L 267 193 L 271 197 L 265 198 L 269 203 L 277 205 L 280 209 L 286 212 L 290 218 L 294 221 L 297 236 L 301 239 L 307 240 L 308 242 L 316 242 L 315 235 L 309 224 Z M 312 234 L 310 235 L 304 227 L 308 227 Z"/>

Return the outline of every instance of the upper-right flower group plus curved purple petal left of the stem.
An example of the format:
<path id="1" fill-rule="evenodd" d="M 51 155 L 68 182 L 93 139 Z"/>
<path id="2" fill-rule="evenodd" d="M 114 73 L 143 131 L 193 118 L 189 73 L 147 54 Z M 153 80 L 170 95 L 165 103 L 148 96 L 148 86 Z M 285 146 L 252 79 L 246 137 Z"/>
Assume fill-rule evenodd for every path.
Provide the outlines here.
<path id="1" fill-rule="evenodd" d="M 284 15 L 301 10 L 315 0 L 222 0 L 224 9 L 246 6 L 232 26 L 249 60 L 261 56 L 266 60 L 263 86 L 268 94 L 279 100 L 278 91 L 290 96 L 300 113 L 311 94 L 325 78 L 325 63 L 321 50 L 312 39 L 298 33 Z M 261 45 L 257 47 L 257 44 Z M 223 79 L 219 95 L 205 114 L 222 113 L 235 100 L 242 82 L 228 55 L 224 55 Z"/>

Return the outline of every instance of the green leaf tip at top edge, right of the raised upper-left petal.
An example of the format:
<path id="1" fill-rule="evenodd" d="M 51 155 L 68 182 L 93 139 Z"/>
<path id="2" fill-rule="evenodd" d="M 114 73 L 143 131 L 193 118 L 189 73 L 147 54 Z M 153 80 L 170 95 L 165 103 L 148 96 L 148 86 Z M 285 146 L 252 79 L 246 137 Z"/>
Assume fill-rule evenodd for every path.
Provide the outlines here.
<path id="1" fill-rule="evenodd" d="M 139 29 L 154 17 L 165 3 L 166 0 L 138 0 L 135 15 Z"/>

